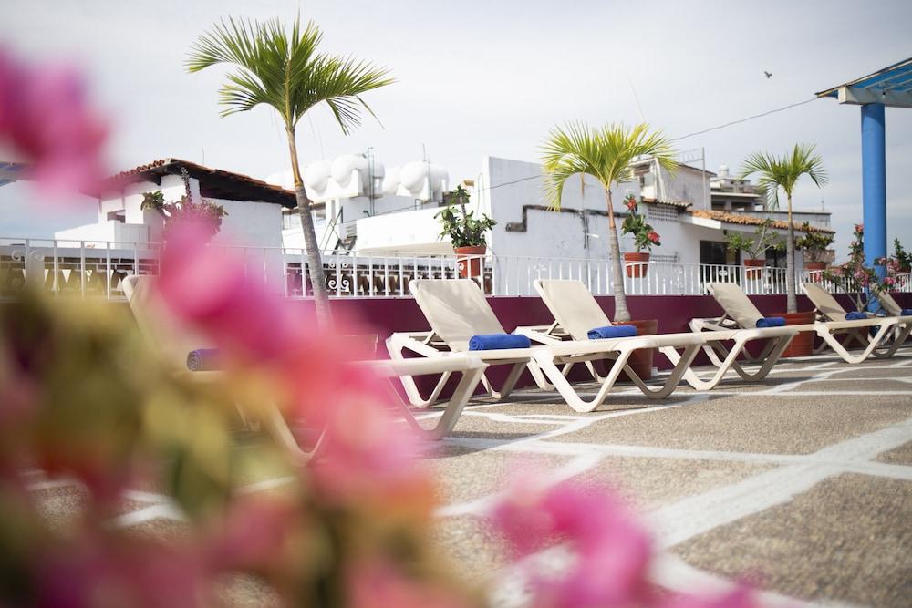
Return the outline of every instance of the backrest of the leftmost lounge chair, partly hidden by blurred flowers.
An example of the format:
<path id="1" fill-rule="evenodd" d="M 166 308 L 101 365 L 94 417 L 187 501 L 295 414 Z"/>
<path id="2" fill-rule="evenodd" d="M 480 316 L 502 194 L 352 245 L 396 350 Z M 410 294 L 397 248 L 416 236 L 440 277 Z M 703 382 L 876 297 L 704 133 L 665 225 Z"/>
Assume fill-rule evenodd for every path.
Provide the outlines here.
<path id="1" fill-rule="evenodd" d="M 156 277 L 149 275 L 128 276 L 123 279 L 123 293 L 130 303 L 130 310 L 140 327 L 140 333 L 153 348 L 159 350 L 177 370 L 187 369 L 187 355 L 197 348 L 208 348 L 205 340 L 179 324 L 155 294 Z"/>

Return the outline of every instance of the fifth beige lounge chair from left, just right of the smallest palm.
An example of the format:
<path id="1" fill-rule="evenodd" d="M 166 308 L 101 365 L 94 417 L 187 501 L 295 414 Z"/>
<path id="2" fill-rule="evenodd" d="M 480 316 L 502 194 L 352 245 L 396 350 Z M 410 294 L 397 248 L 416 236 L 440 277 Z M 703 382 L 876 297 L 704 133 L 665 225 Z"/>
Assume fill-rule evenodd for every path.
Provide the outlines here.
<path id="1" fill-rule="evenodd" d="M 851 321 L 846 320 L 848 311 L 818 283 L 802 283 L 801 288 L 811 301 L 811 304 L 814 304 L 814 311 L 820 321 L 828 323 L 828 325 L 840 322 L 851 323 Z M 889 298 L 889 295 L 887 297 Z M 896 304 L 896 300 L 889 299 L 893 304 Z M 881 303 L 883 304 L 883 301 Z M 902 311 L 900 310 L 899 312 L 901 313 Z M 845 351 L 845 347 L 855 341 L 864 349 L 864 352 L 869 352 L 871 356 L 876 358 L 893 356 L 896 353 L 896 349 L 906 342 L 909 332 L 912 331 L 912 317 L 900 317 L 899 315 L 885 317 L 874 316 L 869 313 L 865 314 L 867 319 L 860 321 L 862 323 L 867 322 L 867 325 L 837 332 L 837 334 L 844 335 L 843 341 L 837 344 Z M 877 334 L 873 337 L 869 331 L 871 326 L 878 328 Z M 895 332 L 895 335 L 890 339 L 890 334 L 893 332 Z M 816 352 L 819 352 L 823 347 L 825 345 L 821 345 L 821 348 L 816 349 Z M 836 350 L 834 346 L 833 348 Z"/>

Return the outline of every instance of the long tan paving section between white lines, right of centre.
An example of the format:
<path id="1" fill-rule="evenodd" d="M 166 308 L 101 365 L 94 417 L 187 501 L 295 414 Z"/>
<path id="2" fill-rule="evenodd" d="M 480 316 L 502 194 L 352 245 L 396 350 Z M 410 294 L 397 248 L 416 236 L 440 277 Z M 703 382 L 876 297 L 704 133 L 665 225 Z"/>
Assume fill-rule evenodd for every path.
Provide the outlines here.
<path id="1" fill-rule="evenodd" d="M 549 440 L 809 454 L 908 417 L 912 394 L 825 399 L 749 395 L 609 418 Z"/>

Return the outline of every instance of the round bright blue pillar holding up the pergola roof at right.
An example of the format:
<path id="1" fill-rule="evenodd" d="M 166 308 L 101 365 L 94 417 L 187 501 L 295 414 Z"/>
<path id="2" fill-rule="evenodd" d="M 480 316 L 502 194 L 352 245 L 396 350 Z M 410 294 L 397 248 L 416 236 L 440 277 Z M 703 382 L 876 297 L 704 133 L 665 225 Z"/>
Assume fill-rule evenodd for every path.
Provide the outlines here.
<path id="1" fill-rule="evenodd" d="M 877 258 L 886 256 L 886 142 L 884 104 L 861 107 L 861 181 L 865 222 L 865 263 L 883 278 L 884 266 Z M 877 308 L 876 301 L 872 302 Z M 869 304 L 869 307 L 871 306 Z M 875 312 L 875 311 L 872 311 Z"/>

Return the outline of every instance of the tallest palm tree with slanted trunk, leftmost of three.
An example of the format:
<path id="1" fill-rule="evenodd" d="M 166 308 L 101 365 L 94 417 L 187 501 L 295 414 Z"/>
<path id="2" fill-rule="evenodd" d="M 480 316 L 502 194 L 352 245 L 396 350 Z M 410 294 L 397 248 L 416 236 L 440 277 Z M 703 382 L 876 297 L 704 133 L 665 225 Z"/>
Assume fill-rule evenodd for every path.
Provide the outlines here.
<path id="1" fill-rule="evenodd" d="M 323 261 L 316 242 L 311 201 L 307 198 L 297 160 L 295 127 L 307 110 L 326 102 L 345 134 L 361 122 L 361 110 L 373 115 L 360 96 L 393 82 L 385 68 L 317 52 L 323 34 L 309 22 L 301 28 L 295 18 L 290 34 L 279 19 L 260 23 L 229 17 L 212 26 L 193 44 L 186 67 L 199 72 L 216 64 L 236 69 L 219 91 L 222 116 L 253 109 L 260 104 L 275 108 L 285 123 L 291 156 L 295 198 L 307 249 L 307 265 L 316 300 L 317 320 L 331 325 Z"/>

